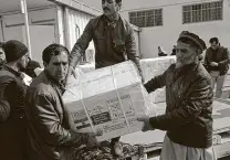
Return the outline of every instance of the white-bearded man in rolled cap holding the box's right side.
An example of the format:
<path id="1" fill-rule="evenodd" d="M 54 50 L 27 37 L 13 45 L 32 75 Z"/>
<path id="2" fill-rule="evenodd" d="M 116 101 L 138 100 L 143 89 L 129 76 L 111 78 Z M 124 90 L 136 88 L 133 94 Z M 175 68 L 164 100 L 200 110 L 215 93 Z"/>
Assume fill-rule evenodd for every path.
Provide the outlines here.
<path id="1" fill-rule="evenodd" d="M 184 31 L 177 41 L 176 64 L 145 84 L 148 93 L 166 86 L 166 113 L 139 116 L 144 131 L 167 131 L 160 160 L 215 160 L 212 148 L 211 77 L 199 55 L 206 49 L 196 34 Z"/>

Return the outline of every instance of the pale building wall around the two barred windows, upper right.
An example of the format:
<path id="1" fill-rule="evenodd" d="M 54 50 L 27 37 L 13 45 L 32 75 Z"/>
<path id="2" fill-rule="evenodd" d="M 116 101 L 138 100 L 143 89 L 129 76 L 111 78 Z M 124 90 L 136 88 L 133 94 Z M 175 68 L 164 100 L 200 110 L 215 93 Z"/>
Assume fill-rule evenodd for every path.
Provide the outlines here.
<path id="1" fill-rule="evenodd" d="M 145 0 L 145 3 L 139 0 L 126 0 L 123 3 L 123 7 L 126 8 L 123 10 L 122 15 L 128 19 L 129 11 L 163 8 L 163 26 L 142 28 L 140 53 L 144 57 L 157 56 L 157 46 L 159 45 L 170 54 L 179 33 L 185 30 L 200 35 L 207 45 L 209 45 L 208 41 L 211 36 L 218 36 L 222 45 L 230 47 L 229 0 L 223 0 L 223 20 L 182 24 L 184 4 L 210 1 L 213 0 Z"/>

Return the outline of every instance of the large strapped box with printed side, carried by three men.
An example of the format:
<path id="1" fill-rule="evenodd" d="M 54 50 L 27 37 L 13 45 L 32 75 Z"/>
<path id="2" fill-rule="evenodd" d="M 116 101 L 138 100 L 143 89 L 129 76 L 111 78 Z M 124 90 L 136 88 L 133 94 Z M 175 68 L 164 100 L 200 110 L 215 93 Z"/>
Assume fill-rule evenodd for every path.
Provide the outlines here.
<path id="1" fill-rule="evenodd" d="M 80 75 L 63 100 L 71 128 L 77 132 L 103 130 L 98 141 L 138 131 L 136 116 L 150 111 L 150 100 L 132 62 Z"/>

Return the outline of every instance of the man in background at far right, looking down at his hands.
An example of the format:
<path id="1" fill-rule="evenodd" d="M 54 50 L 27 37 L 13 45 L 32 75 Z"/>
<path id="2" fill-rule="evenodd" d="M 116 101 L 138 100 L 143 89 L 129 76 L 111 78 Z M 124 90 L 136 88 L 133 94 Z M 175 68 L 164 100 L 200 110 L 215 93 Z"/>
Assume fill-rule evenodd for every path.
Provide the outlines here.
<path id="1" fill-rule="evenodd" d="M 211 46 L 206 51 L 205 65 L 211 75 L 211 88 L 217 84 L 216 97 L 220 98 L 229 71 L 229 51 L 220 45 L 218 38 L 211 38 L 209 43 Z"/>

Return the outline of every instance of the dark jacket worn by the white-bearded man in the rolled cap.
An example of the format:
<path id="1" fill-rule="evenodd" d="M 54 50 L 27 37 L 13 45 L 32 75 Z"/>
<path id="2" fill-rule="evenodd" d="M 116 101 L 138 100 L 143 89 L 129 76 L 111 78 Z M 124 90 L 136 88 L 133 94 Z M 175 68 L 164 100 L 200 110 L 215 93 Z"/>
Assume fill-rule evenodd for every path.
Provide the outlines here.
<path id="1" fill-rule="evenodd" d="M 211 77 L 201 63 L 180 70 L 175 66 L 145 84 L 148 93 L 166 86 L 166 114 L 149 122 L 153 128 L 166 130 L 176 143 L 208 148 L 212 145 Z"/>

